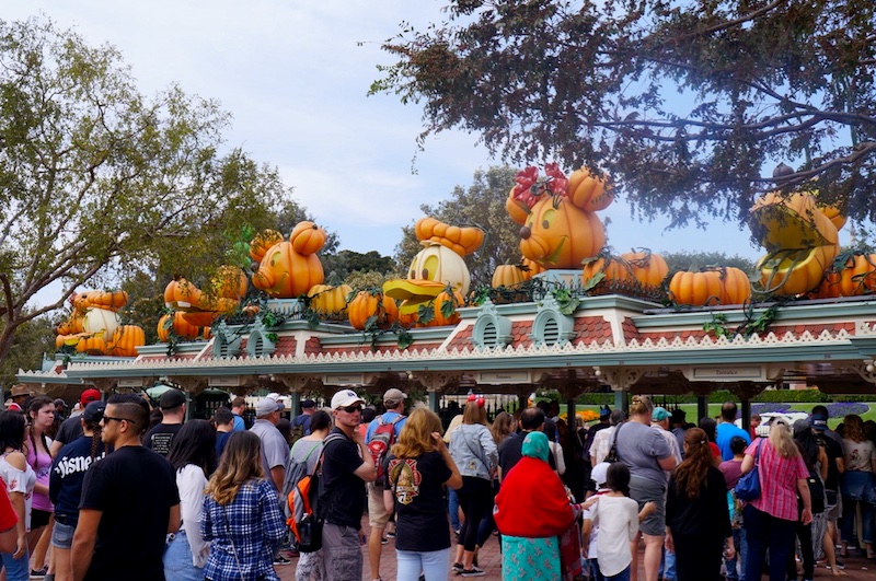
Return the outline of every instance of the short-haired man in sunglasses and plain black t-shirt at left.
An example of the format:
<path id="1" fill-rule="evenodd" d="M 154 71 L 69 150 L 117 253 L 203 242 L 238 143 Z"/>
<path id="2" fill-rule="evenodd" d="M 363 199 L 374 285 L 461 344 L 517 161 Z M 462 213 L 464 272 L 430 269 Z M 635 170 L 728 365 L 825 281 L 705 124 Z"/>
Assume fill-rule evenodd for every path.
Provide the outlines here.
<path id="1" fill-rule="evenodd" d="M 106 402 L 101 439 L 113 452 L 85 473 L 71 548 L 73 579 L 164 579 L 168 533 L 180 528 L 180 493 L 168 461 L 140 443 L 149 425 L 142 398 Z"/>

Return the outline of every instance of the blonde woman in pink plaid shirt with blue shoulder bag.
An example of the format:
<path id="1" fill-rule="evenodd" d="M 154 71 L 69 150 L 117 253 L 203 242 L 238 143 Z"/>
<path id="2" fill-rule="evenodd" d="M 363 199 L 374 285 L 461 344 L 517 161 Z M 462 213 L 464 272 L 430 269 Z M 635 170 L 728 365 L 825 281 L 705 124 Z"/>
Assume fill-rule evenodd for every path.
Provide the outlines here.
<path id="1" fill-rule="evenodd" d="M 785 563 L 794 541 L 797 521 L 812 522 L 809 470 L 800 456 L 791 429 L 781 418 L 773 420 L 770 435 L 752 442 L 746 450 L 742 474 L 754 468 L 758 456 L 760 497 L 742 509 L 746 530 L 746 579 L 760 579 L 766 551 L 770 553 L 770 581 L 785 581 Z M 797 495 L 803 511 L 797 509 Z"/>

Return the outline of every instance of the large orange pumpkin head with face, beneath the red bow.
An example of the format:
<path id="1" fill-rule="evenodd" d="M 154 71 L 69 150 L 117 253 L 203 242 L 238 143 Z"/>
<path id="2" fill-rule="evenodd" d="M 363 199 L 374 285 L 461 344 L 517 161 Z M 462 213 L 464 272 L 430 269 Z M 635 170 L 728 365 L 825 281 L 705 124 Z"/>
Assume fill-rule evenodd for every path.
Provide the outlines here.
<path id="1" fill-rule="evenodd" d="M 520 252 L 545 268 L 579 268 L 606 245 L 597 214 L 567 198 L 543 196 L 520 229 Z"/>

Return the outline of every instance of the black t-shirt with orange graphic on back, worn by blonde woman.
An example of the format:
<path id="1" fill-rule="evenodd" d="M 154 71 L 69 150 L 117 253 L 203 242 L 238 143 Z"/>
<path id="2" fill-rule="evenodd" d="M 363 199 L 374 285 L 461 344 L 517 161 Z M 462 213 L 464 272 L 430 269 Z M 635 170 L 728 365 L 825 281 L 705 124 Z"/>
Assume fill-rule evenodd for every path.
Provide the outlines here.
<path id="1" fill-rule="evenodd" d="M 390 456 L 387 490 L 395 495 L 395 548 L 399 550 L 442 550 L 450 547 L 450 527 L 443 484 L 453 473 L 439 452 L 417 458 Z"/>

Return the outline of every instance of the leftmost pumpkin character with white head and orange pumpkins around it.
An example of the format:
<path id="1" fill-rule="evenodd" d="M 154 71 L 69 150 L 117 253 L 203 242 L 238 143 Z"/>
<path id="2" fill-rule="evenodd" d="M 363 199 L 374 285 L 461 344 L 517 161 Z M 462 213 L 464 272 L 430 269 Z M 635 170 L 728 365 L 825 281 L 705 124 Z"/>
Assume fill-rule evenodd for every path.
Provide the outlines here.
<path id="1" fill-rule="evenodd" d="M 70 297 L 73 311 L 58 325 L 57 347 L 76 347 L 80 353 L 136 357 L 146 345 L 137 325 L 123 325 L 117 311 L 128 302 L 125 291 L 83 291 Z"/>

